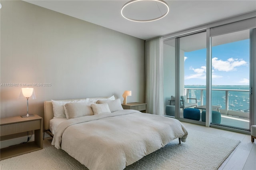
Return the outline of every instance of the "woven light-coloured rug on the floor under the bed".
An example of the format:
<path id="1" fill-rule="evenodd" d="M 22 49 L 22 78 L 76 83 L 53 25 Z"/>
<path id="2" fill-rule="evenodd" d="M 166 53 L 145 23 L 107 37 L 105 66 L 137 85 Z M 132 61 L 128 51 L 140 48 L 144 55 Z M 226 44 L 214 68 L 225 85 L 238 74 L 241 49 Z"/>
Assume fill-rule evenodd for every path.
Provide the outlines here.
<path id="1" fill-rule="evenodd" d="M 44 140 L 43 149 L 1 161 L 1 170 L 88 170 L 63 150 Z M 216 170 L 238 140 L 188 129 L 186 142 L 173 140 L 125 170 Z M 104 169 L 104 167 L 103 167 Z"/>

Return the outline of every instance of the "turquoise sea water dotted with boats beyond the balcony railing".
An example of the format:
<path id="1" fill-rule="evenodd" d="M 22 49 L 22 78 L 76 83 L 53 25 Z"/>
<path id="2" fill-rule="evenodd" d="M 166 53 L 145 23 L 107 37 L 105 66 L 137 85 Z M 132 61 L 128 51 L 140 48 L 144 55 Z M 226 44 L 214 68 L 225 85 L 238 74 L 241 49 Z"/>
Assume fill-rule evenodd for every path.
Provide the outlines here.
<path id="1" fill-rule="evenodd" d="M 206 86 L 204 85 L 185 85 L 189 90 L 189 97 L 196 98 L 198 105 L 206 105 Z M 203 103 L 201 90 L 203 90 Z M 249 86 L 248 85 L 213 85 L 212 89 L 212 105 L 219 105 L 221 109 L 226 109 L 226 91 L 228 91 L 228 110 L 249 112 Z M 235 91 L 246 90 L 246 91 Z"/>

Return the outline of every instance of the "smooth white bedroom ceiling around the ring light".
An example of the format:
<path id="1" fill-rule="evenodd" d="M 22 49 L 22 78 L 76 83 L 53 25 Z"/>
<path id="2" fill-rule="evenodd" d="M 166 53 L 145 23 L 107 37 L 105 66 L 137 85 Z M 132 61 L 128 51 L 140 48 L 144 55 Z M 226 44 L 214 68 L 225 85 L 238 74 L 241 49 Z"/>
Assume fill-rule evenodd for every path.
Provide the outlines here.
<path id="1" fill-rule="evenodd" d="M 256 0 L 165 0 L 170 8 L 166 17 L 154 22 L 132 22 L 120 12 L 128 0 L 24 1 L 143 40 L 256 10 Z M 139 10 L 133 15 L 137 13 Z"/>

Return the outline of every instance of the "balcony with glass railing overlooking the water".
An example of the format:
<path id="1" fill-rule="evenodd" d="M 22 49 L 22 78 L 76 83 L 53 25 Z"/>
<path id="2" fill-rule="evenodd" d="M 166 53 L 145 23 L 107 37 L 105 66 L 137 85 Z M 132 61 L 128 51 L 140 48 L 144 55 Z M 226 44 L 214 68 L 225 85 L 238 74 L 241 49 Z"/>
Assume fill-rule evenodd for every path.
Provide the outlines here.
<path id="1" fill-rule="evenodd" d="M 184 88 L 187 98 L 196 98 L 198 106 L 206 105 L 206 89 Z M 220 106 L 221 125 L 241 129 L 249 128 L 249 90 L 212 89 L 212 105 Z M 181 113 L 182 114 L 182 113 Z"/>

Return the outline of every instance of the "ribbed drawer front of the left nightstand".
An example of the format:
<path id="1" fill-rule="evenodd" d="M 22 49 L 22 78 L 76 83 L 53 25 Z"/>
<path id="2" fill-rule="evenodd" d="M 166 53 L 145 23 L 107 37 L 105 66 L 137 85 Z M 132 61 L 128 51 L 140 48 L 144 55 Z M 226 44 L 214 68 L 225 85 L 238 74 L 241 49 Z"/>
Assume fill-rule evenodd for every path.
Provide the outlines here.
<path id="1" fill-rule="evenodd" d="M 41 120 L 27 121 L 21 123 L 12 123 L 8 125 L 1 125 L 1 136 L 8 134 L 15 134 L 20 132 L 27 132 L 41 128 Z"/>

